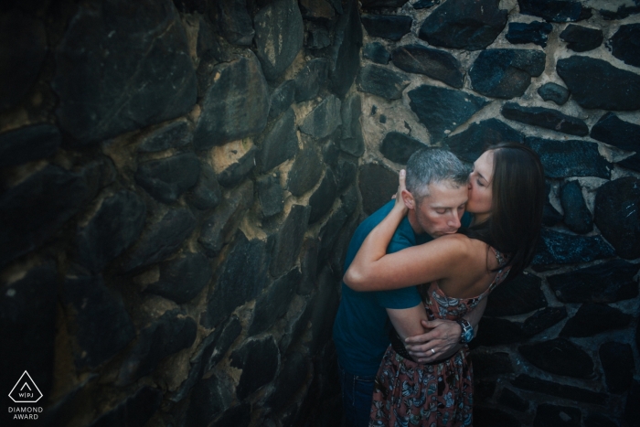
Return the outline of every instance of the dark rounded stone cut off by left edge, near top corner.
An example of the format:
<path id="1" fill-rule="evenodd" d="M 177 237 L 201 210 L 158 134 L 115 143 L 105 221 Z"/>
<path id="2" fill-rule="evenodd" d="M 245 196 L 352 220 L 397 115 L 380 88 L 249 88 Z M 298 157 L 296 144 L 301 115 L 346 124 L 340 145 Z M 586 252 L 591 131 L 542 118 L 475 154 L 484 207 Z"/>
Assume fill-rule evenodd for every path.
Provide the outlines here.
<path id="1" fill-rule="evenodd" d="M 17 10 L 0 17 L 0 39 L 11 40 L 0 51 L 0 111 L 4 111 L 31 91 L 48 48 L 43 21 Z"/>

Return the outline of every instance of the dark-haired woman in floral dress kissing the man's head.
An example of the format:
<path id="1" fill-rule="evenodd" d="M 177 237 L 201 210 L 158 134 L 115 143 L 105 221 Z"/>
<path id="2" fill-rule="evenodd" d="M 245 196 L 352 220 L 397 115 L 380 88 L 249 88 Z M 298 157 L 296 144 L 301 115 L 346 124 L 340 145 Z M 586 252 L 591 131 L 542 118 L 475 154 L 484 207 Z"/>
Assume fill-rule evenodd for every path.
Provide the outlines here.
<path id="1" fill-rule="evenodd" d="M 400 340 L 421 334 L 420 322 L 427 314 L 460 319 L 497 284 L 512 280 L 528 266 L 539 237 L 545 186 L 538 155 L 522 144 L 500 144 L 485 151 L 469 178 L 466 209 L 474 221 L 468 230 L 387 255 L 391 235 L 406 213 L 396 197 L 395 207 L 369 233 L 347 270 L 345 283 L 356 291 L 428 283 L 422 285 L 424 306 L 389 313 L 399 339 L 389 346 L 380 365 L 369 425 L 473 422 L 468 348 L 432 364 L 419 364 Z M 435 355 L 438 349 L 431 351 Z"/>

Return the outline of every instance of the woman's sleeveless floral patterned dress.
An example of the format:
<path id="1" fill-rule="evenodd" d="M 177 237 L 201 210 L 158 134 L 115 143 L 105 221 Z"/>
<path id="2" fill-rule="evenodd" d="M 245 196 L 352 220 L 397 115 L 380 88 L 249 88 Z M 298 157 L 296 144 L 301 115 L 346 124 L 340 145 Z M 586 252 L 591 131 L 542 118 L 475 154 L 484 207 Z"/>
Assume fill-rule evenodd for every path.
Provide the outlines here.
<path id="1" fill-rule="evenodd" d="M 498 265 L 505 260 L 496 254 Z M 488 289 L 475 298 L 451 298 L 431 283 L 425 299 L 429 318 L 457 320 L 507 277 L 509 268 L 497 272 Z M 369 427 L 437 427 L 473 424 L 473 369 L 464 346 L 451 358 L 432 364 L 416 363 L 400 356 L 391 346 L 376 376 Z"/>

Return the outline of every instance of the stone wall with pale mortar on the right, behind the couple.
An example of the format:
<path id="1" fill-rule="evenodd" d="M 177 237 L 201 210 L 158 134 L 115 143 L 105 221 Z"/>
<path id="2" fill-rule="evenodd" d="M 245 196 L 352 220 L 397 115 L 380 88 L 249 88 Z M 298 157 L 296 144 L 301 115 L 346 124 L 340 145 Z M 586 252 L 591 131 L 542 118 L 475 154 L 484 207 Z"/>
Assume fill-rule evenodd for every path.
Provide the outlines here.
<path id="1" fill-rule="evenodd" d="M 536 258 L 474 342 L 474 425 L 638 425 L 640 3 L 362 6 L 365 213 L 425 144 L 473 162 L 517 141 L 545 166 Z"/>

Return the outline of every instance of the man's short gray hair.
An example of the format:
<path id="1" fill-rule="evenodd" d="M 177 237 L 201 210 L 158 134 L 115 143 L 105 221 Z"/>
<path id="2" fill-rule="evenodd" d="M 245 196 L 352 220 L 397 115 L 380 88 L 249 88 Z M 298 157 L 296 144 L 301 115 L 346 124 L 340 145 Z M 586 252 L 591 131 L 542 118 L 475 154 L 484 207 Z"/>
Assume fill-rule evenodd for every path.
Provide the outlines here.
<path id="1" fill-rule="evenodd" d="M 447 182 L 453 187 L 466 186 L 469 168 L 452 152 L 443 148 L 422 148 L 407 162 L 407 190 L 420 200 L 429 196 L 429 185 Z"/>

